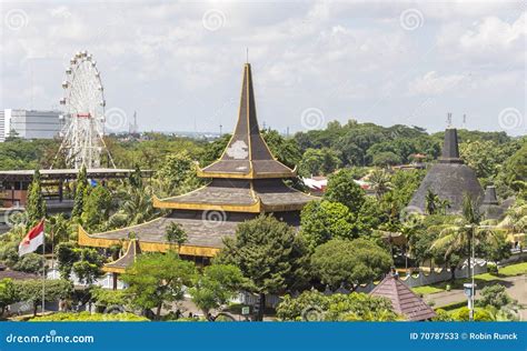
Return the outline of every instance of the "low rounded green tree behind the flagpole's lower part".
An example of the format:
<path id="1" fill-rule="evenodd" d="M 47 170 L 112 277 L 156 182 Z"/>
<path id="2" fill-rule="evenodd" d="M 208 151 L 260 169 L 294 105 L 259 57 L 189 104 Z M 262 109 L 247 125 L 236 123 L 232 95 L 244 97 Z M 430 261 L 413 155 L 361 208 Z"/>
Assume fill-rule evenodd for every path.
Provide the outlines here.
<path id="1" fill-rule="evenodd" d="M 33 317 L 37 315 L 38 307 L 42 303 L 42 280 L 28 279 L 14 282 L 14 288 L 20 301 L 27 301 L 33 305 Z M 59 299 L 68 298 L 72 291 L 73 285 L 70 281 L 46 280 L 46 302 L 57 302 Z"/>

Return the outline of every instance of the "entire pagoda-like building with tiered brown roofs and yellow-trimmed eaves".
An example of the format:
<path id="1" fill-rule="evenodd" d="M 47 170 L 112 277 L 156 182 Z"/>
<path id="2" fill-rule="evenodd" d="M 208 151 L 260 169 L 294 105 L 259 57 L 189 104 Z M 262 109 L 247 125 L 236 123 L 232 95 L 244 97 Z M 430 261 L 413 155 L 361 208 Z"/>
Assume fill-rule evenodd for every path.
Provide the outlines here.
<path id="1" fill-rule="evenodd" d="M 292 170 L 274 158 L 260 134 L 250 64 L 243 68 L 238 123 L 232 138 L 218 161 L 199 169 L 198 177 L 210 182 L 189 193 L 153 198 L 153 207 L 169 209 L 170 214 L 139 225 L 102 233 L 79 229 L 79 244 L 109 248 L 122 244 L 125 255 L 106 265 L 106 271 L 122 273 L 139 252 L 166 252 L 173 244 L 167 241 L 167 228 L 179 223 L 187 242 L 179 247 L 181 257 L 206 264 L 222 247 L 223 238 L 233 237 L 239 223 L 260 213 L 272 213 L 298 228 L 299 212 L 317 199 L 289 188 L 285 179 L 295 178 Z"/>

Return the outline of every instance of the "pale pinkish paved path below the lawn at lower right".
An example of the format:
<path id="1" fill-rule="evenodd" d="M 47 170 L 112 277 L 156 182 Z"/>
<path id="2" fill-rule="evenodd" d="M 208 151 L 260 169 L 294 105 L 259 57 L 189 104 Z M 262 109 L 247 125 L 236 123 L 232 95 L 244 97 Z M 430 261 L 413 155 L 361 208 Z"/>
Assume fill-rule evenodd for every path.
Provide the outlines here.
<path id="1" fill-rule="evenodd" d="M 527 274 L 503 278 L 494 283 L 503 284 L 507 288 L 507 293 L 523 305 L 520 311 L 521 320 L 527 321 Z M 491 283 L 490 283 L 491 284 Z M 476 291 L 476 299 L 479 297 L 479 290 Z M 440 308 L 450 303 L 467 301 L 467 297 L 461 289 L 443 291 L 425 297 L 426 301 L 434 301 L 434 308 Z"/>

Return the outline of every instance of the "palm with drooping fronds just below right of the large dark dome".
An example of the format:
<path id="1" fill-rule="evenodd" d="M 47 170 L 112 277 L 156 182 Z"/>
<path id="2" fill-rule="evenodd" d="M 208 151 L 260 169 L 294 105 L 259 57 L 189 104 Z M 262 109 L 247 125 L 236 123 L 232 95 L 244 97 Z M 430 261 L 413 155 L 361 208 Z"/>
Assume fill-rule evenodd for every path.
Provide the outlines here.
<path id="1" fill-rule="evenodd" d="M 454 224 L 445 224 L 439 232 L 439 238 L 434 241 L 430 250 L 445 251 L 445 260 L 449 260 L 453 254 L 458 253 L 468 261 L 468 275 L 470 275 L 473 245 L 487 244 L 497 247 L 503 235 L 495 228 L 480 225 L 480 214 L 477 207 L 468 194 L 463 201 L 463 217 Z M 453 279 L 455 279 L 453 269 Z"/>

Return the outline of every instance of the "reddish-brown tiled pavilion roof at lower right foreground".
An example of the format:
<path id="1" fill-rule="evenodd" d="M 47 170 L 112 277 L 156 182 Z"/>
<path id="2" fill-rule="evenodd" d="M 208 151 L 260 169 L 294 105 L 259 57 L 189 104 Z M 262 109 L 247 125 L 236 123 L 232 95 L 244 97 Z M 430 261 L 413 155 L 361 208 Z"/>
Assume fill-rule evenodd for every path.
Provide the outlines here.
<path id="1" fill-rule="evenodd" d="M 387 274 L 370 294 L 387 298 L 391 301 L 394 312 L 405 315 L 410 321 L 424 321 L 436 315 L 421 298 L 392 274 Z"/>

